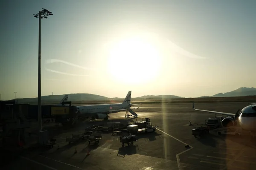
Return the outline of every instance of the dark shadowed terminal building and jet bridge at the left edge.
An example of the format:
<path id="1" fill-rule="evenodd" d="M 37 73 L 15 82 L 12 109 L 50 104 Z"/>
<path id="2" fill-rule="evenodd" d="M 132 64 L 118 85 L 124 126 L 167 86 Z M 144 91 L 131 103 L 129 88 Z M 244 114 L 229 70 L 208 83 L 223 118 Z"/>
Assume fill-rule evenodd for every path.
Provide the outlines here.
<path id="1" fill-rule="evenodd" d="M 42 120 L 51 119 L 62 125 L 73 125 L 78 112 L 71 102 L 69 106 L 42 105 Z M 38 128 L 38 105 L 17 104 L 15 100 L 0 101 L 0 143 L 25 144 L 31 129 Z M 35 127 L 32 127 L 32 124 Z"/>

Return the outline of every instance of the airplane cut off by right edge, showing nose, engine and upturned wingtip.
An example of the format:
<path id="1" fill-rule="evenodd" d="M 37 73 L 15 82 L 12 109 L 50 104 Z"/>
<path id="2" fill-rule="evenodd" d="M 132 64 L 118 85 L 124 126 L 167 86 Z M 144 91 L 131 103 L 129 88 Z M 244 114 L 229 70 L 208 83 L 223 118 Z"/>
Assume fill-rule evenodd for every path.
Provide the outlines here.
<path id="1" fill-rule="evenodd" d="M 242 130 L 254 132 L 254 133 L 256 132 L 256 104 L 255 103 L 253 103 L 253 105 L 248 105 L 244 107 L 241 110 L 241 112 L 239 112 L 238 110 L 236 114 L 195 109 L 194 102 L 193 102 L 193 109 L 195 111 L 204 111 L 209 113 L 227 115 L 228 117 L 224 118 L 221 121 L 222 127 L 240 125 Z"/>

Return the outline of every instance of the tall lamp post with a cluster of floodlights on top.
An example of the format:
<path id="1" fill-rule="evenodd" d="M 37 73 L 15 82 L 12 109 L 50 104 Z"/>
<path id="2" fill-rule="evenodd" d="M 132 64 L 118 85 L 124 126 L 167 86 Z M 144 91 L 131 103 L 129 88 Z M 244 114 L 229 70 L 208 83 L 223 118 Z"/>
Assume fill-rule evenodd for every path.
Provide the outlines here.
<path id="1" fill-rule="evenodd" d="M 41 113 L 41 19 L 53 15 L 52 12 L 42 8 L 34 17 L 39 18 L 39 37 L 38 37 L 38 133 L 42 130 L 42 113 Z M 38 134 L 39 137 L 39 134 Z"/>

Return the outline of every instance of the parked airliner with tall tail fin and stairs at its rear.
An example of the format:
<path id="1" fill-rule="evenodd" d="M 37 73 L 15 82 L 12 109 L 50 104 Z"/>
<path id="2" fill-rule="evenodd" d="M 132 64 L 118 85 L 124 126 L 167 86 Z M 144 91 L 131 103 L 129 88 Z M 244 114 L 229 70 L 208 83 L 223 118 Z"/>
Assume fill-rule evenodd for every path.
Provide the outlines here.
<path id="1" fill-rule="evenodd" d="M 76 106 L 77 111 L 80 111 L 80 116 L 90 116 L 91 119 L 105 119 L 108 120 L 110 113 L 117 113 L 120 111 L 129 111 L 134 117 L 138 115 L 132 111 L 131 106 L 140 105 L 140 104 L 131 104 L 131 91 L 128 92 L 124 101 L 122 103 L 115 104 L 104 104 L 104 105 L 85 105 L 85 106 Z"/>

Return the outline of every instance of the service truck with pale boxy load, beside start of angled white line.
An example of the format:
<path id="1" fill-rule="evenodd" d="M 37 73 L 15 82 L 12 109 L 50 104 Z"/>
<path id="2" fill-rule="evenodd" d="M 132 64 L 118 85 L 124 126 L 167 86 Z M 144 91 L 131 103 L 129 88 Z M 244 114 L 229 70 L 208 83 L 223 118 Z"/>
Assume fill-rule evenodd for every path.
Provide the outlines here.
<path id="1" fill-rule="evenodd" d="M 145 120 L 134 122 L 133 125 L 128 125 L 127 130 L 129 133 L 147 133 L 154 132 L 158 126 L 152 126 L 149 118 Z"/>

